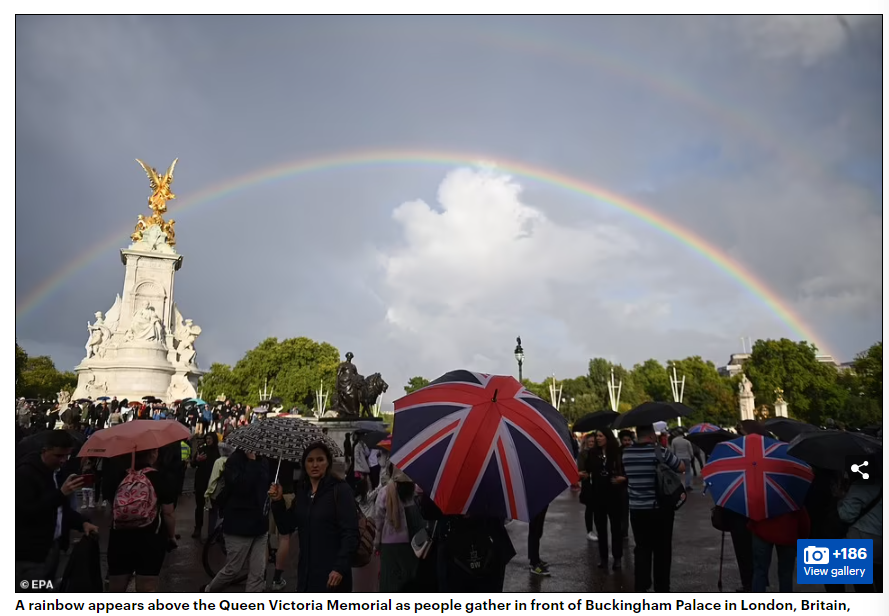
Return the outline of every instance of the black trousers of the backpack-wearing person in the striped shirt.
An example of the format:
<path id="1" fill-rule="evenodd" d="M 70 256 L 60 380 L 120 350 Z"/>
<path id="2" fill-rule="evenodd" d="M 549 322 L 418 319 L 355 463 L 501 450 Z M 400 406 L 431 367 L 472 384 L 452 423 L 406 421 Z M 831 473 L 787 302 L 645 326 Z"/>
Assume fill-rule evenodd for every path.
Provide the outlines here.
<path id="1" fill-rule="evenodd" d="M 630 523 L 636 540 L 634 592 L 647 592 L 651 588 L 652 565 L 654 592 L 670 592 L 674 513 L 672 509 L 630 510 Z M 599 540 L 602 538 L 599 537 Z"/>

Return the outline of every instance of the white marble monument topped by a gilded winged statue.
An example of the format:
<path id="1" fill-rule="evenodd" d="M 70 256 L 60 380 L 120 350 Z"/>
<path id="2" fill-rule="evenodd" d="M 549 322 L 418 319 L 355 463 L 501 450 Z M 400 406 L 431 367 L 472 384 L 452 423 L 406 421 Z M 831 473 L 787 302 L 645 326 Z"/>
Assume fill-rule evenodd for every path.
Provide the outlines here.
<path id="1" fill-rule="evenodd" d="M 173 282 L 182 267 L 174 248 L 175 221 L 165 221 L 166 202 L 176 162 L 160 176 L 141 161 L 153 191 L 152 216 L 139 216 L 133 243 L 120 251 L 126 267 L 123 293 L 111 309 L 97 312 L 87 323 L 86 357 L 74 370 L 74 399 L 117 396 L 165 401 L 197 395 L 198 369 L 194 343 L 201 328 L 183 319 L 173 301 Z"/>

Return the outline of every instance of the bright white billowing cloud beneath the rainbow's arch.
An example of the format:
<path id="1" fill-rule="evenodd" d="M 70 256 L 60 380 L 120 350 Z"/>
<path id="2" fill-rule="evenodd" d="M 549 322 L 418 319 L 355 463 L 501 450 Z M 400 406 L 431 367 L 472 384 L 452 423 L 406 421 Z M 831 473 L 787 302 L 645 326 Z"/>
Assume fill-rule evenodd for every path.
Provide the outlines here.
<path id="1" fill-rule="evenodd" d="M 523 323 L 552 320 L 639 251 L 615 227 L 553 223 L 491 168 L 453 171 L 438 201 L 394 211 L 404 244 L 383 249 L 380 262 L 395 335 L 422 339 L 418 352 L 439 363 L 489 364 Z"/>

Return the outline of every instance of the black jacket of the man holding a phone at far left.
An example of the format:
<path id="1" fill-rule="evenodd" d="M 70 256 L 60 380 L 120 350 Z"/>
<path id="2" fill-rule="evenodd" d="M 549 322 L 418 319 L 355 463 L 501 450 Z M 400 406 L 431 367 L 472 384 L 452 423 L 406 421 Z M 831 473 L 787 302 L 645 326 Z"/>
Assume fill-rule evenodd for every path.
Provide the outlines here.
<path id="1" fill-rule="evenodd" d="M 63 480 L 59 475 L 59 481 Z M 53 471 L 39 452 L 24 456 L 15 467 L 15 559 L 43 562 L 49 555 L 62 508 L 59 546 L 68 547 L 68 533 L 81 529 L 84 519 L 71 508 L 70 500 L 56 487 Z"/>

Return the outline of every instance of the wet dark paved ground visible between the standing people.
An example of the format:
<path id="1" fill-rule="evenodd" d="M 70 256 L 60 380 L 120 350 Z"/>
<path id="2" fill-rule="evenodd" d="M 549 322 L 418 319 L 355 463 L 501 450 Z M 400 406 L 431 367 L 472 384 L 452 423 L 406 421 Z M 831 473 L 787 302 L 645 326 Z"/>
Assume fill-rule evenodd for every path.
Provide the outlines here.
<path id="1" fill-rule="evenodd" d="M 191 477 L 186 481 L 190 489 Z M 186 494 L 177 509 L 177 527 L 182 539 L 179 548 L 167 557 L 161 576 L 161 590 L 166 592 L 195 592 L 208 578 L 201 565 L 202 544 L 191 539 L 194 529 L 193 498 Z M 709 496 L 703 496 L 698 486 L 688 503 L 676 514 L 673 531 L 672 590 L 674 592 L 716 592 L 719 576 L 720 533 L 710 525 Z M 100 526 L 107 527 L 107 512 L 95 512 Z M 629 549 L 625 549 L 623 570 L 600 570 L 598 549 L 586 538 L 583 509 L 577 495 L 566 492 L 550 506 L 541 543 L 541 556 L 551 566 L 548 578 L 532 575 L 527 561 L 527 525 L 513 522 L 508 526 L 517 556 L 509 563 L 504 590 L 509 592 L 632 592 L 633 553 L 632 533 Z M 206 532 L 206 530 L 205 530 Z M 103 539 L 102 546 L 106 540 Z M 625 544 L 626 548 L 627 544 Z M 103 555 L 104 561 L 104 555 Z M 104 566 L 104 564 L 103 564 Z M 372 565 L 371 565 L 372 566 Z M 285 578 L 295 580 L 295 562 Z M 270 568 L 271 573 L 271 568 Z M 374 574 L 367 572 L 366 577 Z M 356 581 L 357 584 L 357 581 Z M 777 576 L 772 571 L 772 584 L 777 587 Z M 740 586 L 740 577 L 732 551 L 731 540 L 725 541 L 723 560 L 723 589 L 732 592 Z M 236 587 L 234 591 L 243 590 Z M 821 587 L 800 586 L 798 591 L 822 592 Z"/>

